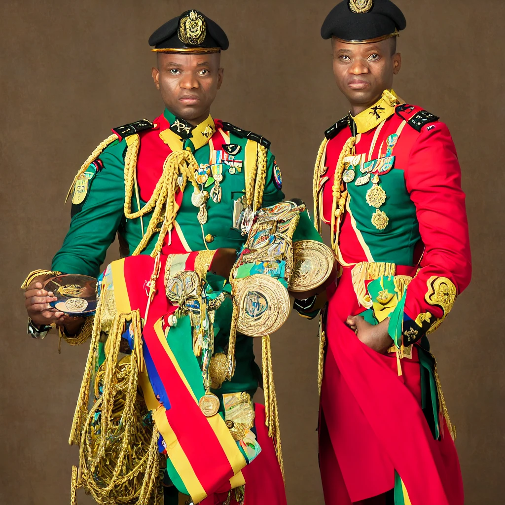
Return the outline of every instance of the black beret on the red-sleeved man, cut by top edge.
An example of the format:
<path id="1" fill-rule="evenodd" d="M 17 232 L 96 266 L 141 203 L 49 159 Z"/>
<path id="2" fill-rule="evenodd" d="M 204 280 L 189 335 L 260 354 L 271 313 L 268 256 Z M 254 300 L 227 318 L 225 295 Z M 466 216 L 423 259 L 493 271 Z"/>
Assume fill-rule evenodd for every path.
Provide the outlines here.
<path id="1" fill-rule="evenodd" d="M 344 0 L 326 16 L 321 36 L 345 42 L 376 42 L 397 35 L 406 26 L 405 16 L 389 0 Z"/>

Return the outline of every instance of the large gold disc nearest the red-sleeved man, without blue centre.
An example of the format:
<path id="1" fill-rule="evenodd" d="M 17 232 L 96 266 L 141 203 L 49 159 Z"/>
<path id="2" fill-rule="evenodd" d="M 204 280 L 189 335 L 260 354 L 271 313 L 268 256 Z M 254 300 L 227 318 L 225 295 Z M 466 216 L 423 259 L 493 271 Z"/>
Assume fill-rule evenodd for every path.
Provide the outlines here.
<path id="1" fill-rule="evenodd" d="M 298 240 L 294 242 L 293 249 L 294 268 L 289 290 L 310 291 L 323 284 L 335 263 L 332 250 L 317 240 Z"/>

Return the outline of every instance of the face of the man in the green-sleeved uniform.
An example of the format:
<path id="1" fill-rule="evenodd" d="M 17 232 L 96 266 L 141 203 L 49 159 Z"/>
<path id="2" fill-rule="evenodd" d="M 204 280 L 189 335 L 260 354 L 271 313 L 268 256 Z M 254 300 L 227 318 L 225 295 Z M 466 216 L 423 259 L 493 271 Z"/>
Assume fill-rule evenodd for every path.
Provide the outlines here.
<path id="1" fill-rule="evenodd" d="M 165 107 L 189 123 L 205 121 L 223 82 L 219 63 L 219 53 L 158 53 L 158 68 L 151 73 Z"/>

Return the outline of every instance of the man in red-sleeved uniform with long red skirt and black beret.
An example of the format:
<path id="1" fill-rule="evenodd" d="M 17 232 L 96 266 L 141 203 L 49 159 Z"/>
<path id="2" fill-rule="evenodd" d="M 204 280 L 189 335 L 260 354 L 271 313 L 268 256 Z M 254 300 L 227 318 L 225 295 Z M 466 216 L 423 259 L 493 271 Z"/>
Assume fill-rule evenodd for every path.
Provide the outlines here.
<path id="1" fill-rule="evenodd" d="M 314 175 L 315 222 L 331 226 L 338 268 L 321 331 L 319 451 L 331 505 L 463 505 L 426 335 L 470 281 L 465 195 L 447 126 L 391 89 L 405 27 L 389 0 L 345 0 L 321 29 L 350 103 L 326 131 Z"/>

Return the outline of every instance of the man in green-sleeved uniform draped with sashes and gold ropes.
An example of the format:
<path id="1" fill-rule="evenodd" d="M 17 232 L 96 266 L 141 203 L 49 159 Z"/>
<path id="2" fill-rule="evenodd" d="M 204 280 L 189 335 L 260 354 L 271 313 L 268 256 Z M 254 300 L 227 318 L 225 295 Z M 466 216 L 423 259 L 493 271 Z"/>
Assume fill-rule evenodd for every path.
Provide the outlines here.
<path id="1" fill-rule="evenodd" d="M 162 452 L 165 503 L 177 503 L 178 491 L 190 495 L 188 503 L 234 503 L 243 491 L 230 489 L 245 483 L 248 505 L 283 504 L 280 444 L 276 455 L 268 442 L 268 435 L 278 439 L 269 419 L 275 395 L 269 385 L 267 413 L 251 401 L 261 373 L 252 338 L 235 341 L 226 282 L 255 212 L 284 198 L 280 171 L 267 139 L 210 115 L 223 82 L 220 53 L 228 48 L 215 22 L 187 11 L 149 44 L 164 113 L 115 128 L 97 146 L 72 184 L 72 221 L 52 270 L 32 272 L 23 285 L 34 338 L 54 326 L 70 344 L 91 336 L 70 439 L 81 446 L 73 489 L 86 487 L 100 503 L 157 501 L 151 477 Z M 57 297 L 45 281 L 61 273 L 97 277 L 116 234 L 123 260 L 99 279 L 94 323 L 54 309 Z M 299 239 L 320 241 L 306 212 L 294 232 Z M 137 372 L 145 404 L 133 387 Z M 131 379 L 125 390 L 124 377 Z M 242 417 L 228 417 L 232 409 Z M 110 440 L 122 449 L 105 440 L 113 428 Z"/>

